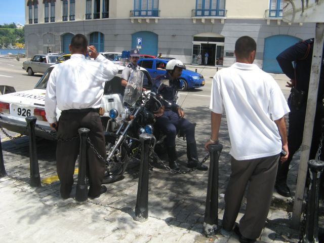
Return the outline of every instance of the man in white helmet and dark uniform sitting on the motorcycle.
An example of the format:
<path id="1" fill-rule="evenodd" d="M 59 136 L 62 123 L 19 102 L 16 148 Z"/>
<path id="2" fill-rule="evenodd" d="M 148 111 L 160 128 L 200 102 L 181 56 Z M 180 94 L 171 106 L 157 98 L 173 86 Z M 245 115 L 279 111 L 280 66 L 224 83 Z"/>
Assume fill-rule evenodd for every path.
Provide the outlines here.
<path id="1" fill-rule="evenodd" d="M 185 65 L 177 60 L 170 60 L 166 65 L 167 73 L 156 78 L 151 91 L 161 96 L 161 105 L 154 111 L 156 126 L 166 134 L 165 144 L 167 145 L 169 167 L 172 170 L 180 171 L 177 164 L 176 135 L 177 131 L 184 131 L 187 139 L 188 168 L 196 168 L 200 171 L 207 171 L 208 167 L 200 164 L 197 155 L 196 141 L 194 137 L 195 125 L 184 117 L 183 109 L 176 104 L 177 91 L 180 88 L 179 77 Z M 169 84 L 167 84 L 169 83 Z"/>

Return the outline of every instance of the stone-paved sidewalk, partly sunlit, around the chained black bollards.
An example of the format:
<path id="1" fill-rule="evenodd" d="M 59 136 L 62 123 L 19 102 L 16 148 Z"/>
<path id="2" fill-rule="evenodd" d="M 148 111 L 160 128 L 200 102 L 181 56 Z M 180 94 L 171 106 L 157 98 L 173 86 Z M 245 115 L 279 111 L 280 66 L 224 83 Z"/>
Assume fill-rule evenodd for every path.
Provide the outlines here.
<path id="1" fill-rule="evenodd" d="M 203 69 L 202 73 L 210 78 L 214 72 L 215 69 Z M 286 82 L 282 75 L 274 76 L 281 84 Z M 285 89 L 284 85 L 281 86 Z M 200 119 L 196 138 L 199 157 L 202 158 L 207 154 L 203 144 L 210 135 L 210 111 L 205 105 L 192 107 L 187 113 L 188 117 Z M 133 220 L 138 186 L 137 162 L 131 161 L 125 178 L 108 184 L 106 193 L 79 204 L 73 198 L 62 200 L 59 196 L 55 142 L 37 141 L 42 187 L 33 188 L 28 184 L 28 137 L 8 140 L 2 132 L 0 134 L 8 174 L 0 178 L 1 242 L 238 242 L 233 232 L 220 230 L 213 238 L 206 238 L 203 234 L 208 172 L 174 175 L 155 167 L 149 175 L 149 217 L 146 222 L 140 223 Z M 230 174 L 230 145 L 225 117 L 222 119 L 220 141 L 224 147 L 219 160 L 219 225 Z M 185 141 L 177 139 L 183 170 L 186 170 L 185 146 Z M 290 172 L 289 183 L 292 185 L 296 180 L 297 163 L 298 160 L 295 160 Z M 75 187 L 72 196 L 74 194 Z M 244 201 L 238 220 L 244 213 L 245 205 Z M 298 231 L 290 228 L 291 212 L 292 199 L 274 193 L 268 220 L 258 240 L 297 242 Z"/>

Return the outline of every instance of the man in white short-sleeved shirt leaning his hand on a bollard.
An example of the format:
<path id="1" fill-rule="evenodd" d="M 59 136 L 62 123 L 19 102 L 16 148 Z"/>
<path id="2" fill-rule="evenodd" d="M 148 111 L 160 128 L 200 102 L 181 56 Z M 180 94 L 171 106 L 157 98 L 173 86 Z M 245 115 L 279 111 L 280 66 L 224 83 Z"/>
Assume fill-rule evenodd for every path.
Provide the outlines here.
<path id="1" fill-rule="evenodd" d="M 213 79 L 210 109 L 212 135 L 205 143 L 216 143 L 225 108 L 231 142 L 231 176 L 225 192 L 223 228 L 232 230 L 250 181 L 245 215 L 234 231 L 240 242 L 254 242 L 267 218 L 281 149 L 287 154 L 284 115 L 287 102 L 275 80 L 252 64 L 256 42 L 242 36 L 235 43 L 236 63 L 218 71 Z"/>

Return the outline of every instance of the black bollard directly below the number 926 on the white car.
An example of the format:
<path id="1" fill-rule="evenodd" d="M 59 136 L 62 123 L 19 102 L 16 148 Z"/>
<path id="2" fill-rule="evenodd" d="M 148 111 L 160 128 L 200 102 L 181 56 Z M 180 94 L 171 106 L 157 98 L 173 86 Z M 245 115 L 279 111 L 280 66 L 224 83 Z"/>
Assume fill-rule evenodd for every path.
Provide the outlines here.
<path id="1" fill-rule="evenodd" d="M 27 116 L 27 127 L 29 134 L 29 164 L 30 164 L 30 185 L 41 186 L 41 176 L 39 175 L 39 166 L 36 149 L 35 124 L 37 118 L 35 116 Z"/>

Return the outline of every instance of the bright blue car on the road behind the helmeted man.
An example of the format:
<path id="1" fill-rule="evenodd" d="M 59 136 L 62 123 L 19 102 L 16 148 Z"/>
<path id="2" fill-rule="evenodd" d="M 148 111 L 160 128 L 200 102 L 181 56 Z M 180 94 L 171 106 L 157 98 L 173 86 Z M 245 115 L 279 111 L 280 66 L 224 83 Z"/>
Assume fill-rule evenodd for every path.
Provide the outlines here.
<path id="1" fill-rule="evenodd" d="M 154 81 L 157 76 L 166 73 L 166 70 L 164 69 L 157 69 L 159 64 L 161 63 L 165 67 L 168 61 L 169 60 L 167 59 L 160 59 L 160 58 L 144 58 L 144 59 L 139 59 L 138 65 L 140 67 L 145 68 Z M 203 75 L 187 69 L 184 69 L 182 71 L 180 76 L 180 82 L 181 82 L 180 91 L 186 91 L 192 88 L 199 88 L 205 85 L 205 79 Z"/>

